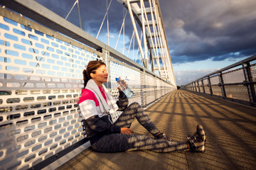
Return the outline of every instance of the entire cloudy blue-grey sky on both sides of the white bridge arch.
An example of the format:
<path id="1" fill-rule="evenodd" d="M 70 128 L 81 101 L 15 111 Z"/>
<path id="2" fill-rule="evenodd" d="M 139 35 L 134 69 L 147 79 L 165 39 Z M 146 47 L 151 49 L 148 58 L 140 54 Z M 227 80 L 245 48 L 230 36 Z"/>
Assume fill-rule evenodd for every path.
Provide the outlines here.
<path id="1" fill-rule="evenodd" d="M 75 0 L 36 0 L 65 18 Z M 110 3 L 110 0 L 108 0 Z M 159 0 L 177 85 L 203 77 L 256 54 L 255 0 Z M 106 0 L 79 1 L 82 29 L 95 36 L 105 16 Z M 115 47 L 126 9 L 112 0 L 109 12 L 110 46 Z M 78 7 L 68 21 L 80 27 Z M 99 39 L 107 41 L 104 23 Z M 125 48 L 132 24 L 125 20 Z M 117 50 L 122 52 L 122 38 Z M 125 54 L 125 53 L 124 53 Z"/>

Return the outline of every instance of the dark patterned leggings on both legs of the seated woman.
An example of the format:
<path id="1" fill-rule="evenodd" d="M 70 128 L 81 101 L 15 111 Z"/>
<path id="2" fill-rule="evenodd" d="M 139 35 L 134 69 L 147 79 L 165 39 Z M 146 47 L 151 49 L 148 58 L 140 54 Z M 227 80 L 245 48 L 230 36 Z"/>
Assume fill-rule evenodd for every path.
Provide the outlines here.
<path id="1" fill-rule="evenodd" d="M 119 116 L 114 125 L 120 128 L 130 128 L 134 118 L 146 128 L 153 136 L 160 131 L 156 128 L 149 116 L 144 113 L 144 109 L 139 103 L 130 104 Z M 122 133 L 112 133 L 104 135 L 92 145 L 92 149 L 97 152 L 124 152 L 131 150 L 151 150 L 154 152 L 173 152 L 188 149 L 187 142 L 174 142 L 168 140 L 155 140 L 146 135 L 127 135 Z"/>

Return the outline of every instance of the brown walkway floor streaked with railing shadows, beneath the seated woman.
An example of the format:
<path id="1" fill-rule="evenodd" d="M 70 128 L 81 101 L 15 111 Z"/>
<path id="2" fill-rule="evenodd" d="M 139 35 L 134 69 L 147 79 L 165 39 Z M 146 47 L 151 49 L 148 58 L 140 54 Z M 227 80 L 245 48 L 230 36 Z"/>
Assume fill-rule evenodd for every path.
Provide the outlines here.
<path id="1" fill-rule="evenodd" d="M 155 153 L 133 151 L 114 154 L 86 149 L 58 169 L 256 169 L 256 109 L 211 96 L 176 90 L 146 110 L 159 130 L 173 140 L 203 125 L 206 152 Z M 137 134 L 149 132 L 137 123 Z"/>

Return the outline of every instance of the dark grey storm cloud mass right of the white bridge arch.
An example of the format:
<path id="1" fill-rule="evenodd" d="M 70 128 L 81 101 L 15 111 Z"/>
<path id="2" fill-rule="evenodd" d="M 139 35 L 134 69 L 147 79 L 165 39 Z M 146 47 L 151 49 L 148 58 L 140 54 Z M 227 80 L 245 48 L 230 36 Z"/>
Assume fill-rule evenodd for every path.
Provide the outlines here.
<path id="1" fill-rule="evenodd" d="M 256 53 L 256 1 L 159 1 L 172 62 Z"/>

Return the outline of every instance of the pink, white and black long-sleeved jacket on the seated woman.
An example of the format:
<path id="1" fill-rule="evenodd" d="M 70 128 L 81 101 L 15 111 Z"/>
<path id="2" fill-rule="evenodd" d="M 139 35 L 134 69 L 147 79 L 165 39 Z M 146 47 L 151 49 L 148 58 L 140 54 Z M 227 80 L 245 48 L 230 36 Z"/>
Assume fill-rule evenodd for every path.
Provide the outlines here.
<path id="1" fill-rule="evenodd" d="M 107 101 L 104 89 L 99 86 L 100 92 Z M 110 133 L 119 133 L 120 127 L 112 123 L 109 114 L 100 111 L 100 103 L 95 94 L 89 89 L 82 89 L 82 96 L 78 101 L 80 112 L 85 127 L 85 132 L 91 145 L 100 139 L 103 135 Z M 128 98 L 122 91 L 119 91 L 119 100 L 117 101 L 118 111 L 124 111 L 128 106 Z"/>

